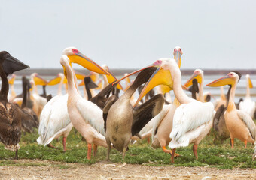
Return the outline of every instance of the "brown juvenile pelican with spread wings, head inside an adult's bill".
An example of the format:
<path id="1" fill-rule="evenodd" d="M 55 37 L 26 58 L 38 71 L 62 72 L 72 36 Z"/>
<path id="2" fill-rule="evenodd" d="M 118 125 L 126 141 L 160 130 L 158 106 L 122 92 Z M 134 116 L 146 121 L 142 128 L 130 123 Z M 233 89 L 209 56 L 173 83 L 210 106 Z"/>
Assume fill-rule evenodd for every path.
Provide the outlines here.
<path id="1" fill-rule="evenodd" d="M 142 83 L 148 80 L 154 70 L 155 68 L 146 68 L 140 72 L 133 84 L 120 98 L 117 99 L 115 96 L 108 98 L 103 109 L 103 117 L 106 123 L 105 139 L 108 144 L 108 160 L 111 143 L 114 148 L 123 152 L 124 160 L 131 137 L 139 133 L 145 124 L 162 110 L 164 103 L 163 95 L 156 95 L 134 109 L 130 104 L 130 98 L 133 96 L 133 93 Z M 115 83 L 118 83 L 120 80 Z"/>

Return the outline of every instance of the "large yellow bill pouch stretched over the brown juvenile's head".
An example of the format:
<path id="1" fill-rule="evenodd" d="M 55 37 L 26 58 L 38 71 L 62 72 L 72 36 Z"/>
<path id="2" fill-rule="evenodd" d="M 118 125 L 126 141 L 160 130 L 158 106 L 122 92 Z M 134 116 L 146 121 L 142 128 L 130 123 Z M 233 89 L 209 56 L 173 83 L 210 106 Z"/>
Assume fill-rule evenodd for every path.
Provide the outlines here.
<path id="1" fill-rule="evenodd" d="M 145 84 L 141 94 L 139 95 L 138 100 L 136 101 L 136 104 L 134 104 L 133 107 L 136 107 L 139 101 L 141 101 L 142 98 L 157 85 L 166 85 L 169 88 L 166 89 L 166 91 L 172 90 L 173 81 L 171 72 L 169 70 L 163 70 L 163 68 L 160 67 L 156 71 L 154 71 L 154 74 L 152 74 L 151 78 Z"/>

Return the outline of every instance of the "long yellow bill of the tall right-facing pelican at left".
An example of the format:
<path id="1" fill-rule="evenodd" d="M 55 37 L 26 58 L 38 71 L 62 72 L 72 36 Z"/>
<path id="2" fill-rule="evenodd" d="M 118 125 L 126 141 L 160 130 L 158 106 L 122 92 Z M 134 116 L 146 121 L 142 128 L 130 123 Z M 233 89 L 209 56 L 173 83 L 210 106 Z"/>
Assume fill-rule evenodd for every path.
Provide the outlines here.
<path id="1" fill-rule="evenodd" d="M 70 62 L 77 63 L 78 65 L 87 68 L 90 71 L 96 72 L 98 74 L 108 74 L 102 67 L 100 67 L 96 62 L 93 62 L 90 58 L 78 52 L 75 55 L 68 55 Z"/>

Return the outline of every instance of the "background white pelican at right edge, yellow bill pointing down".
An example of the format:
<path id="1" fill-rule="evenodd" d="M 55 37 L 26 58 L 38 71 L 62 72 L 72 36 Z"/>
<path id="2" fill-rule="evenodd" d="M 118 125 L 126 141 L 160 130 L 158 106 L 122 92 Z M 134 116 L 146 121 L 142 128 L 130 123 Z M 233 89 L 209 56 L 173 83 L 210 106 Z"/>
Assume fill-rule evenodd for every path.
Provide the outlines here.
<path id="1" fill-rule="evenodd" d="M 253 88 L 251 78 L 249 74 L 246 74 L 246 96 L 244 101 L 239 103 L 239 110 L 244 110 L 251 118 L 254 118 L 254 112 L 256 110 L 256 104 L 251 100 L 250 89 Z"/>

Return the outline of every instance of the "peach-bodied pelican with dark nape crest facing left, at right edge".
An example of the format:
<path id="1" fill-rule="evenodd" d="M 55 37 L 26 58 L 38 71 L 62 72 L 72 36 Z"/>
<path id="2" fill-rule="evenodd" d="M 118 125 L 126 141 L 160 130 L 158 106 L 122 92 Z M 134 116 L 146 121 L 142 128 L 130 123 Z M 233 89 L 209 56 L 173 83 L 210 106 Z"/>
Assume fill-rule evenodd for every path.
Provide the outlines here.
<path id="1" fill-rule="evenodd" d="M 245 148 L 247 142 L 255 142 L 256 138 L 256 125 L 251 119 L 248 113 L 243 110 L 237 110 L 234 103 L 236 85 L 241 77 L 241 74 L 237 71 L 230 72 L 224 77 L 214 80 L 206 86 L 224 86 L 230 85 L 230 97 L 227 105 L 227 110 L 224 113 L 224 119 L 227 125 L 227 129 L 230 131 L 231 148 L 233 148 L 234 139 L 240 139 L 245 143 Z"/>

